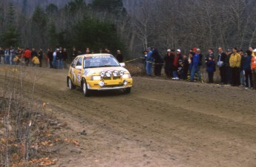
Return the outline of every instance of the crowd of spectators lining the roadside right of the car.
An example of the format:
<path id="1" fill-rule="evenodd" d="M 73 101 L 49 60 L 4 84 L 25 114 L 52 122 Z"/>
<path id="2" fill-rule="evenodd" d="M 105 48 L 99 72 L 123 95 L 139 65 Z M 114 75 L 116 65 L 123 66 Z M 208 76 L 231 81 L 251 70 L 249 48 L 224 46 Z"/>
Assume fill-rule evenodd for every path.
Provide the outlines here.
<path id="1" fill-rule="evenodd" d="M 209 48 L 208 54 L 203 56 L 199 48 L 192 48 L 189 54 L 182 54 L 179 50 L 168 49 L 166 55 L 160 55 L 157 49 L 148 47 L 143 52 L 142 58 L 145 64 L 145 73 L 148 76 L 160 76 L 162 69 L 166 78 L 173 80 L 184 80 L 189 82 L 203 81 L 201 72 L 208 73 L 208 83 L 214 81 L 214 73 L 218 71 L 220 81 L 218 84 L 241 86 L 246 89 L 256 89 L 256 49 L 249 47 L 249 50 L 232 50 L 224 52 L 222 47 L 217 50 Z M 152 67 L 154 66 L 154 75 Z"/>

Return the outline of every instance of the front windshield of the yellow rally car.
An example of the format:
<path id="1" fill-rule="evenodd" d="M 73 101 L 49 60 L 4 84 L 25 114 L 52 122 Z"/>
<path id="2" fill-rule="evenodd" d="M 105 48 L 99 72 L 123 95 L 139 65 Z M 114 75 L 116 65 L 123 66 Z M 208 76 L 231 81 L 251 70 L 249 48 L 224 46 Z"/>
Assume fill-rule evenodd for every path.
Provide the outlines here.
<path id="1" fill-rule="evenodd" d="M 95 67 L 120 67 L 113 55 L 99 55 L 84 58 L 84 69 Z"/>

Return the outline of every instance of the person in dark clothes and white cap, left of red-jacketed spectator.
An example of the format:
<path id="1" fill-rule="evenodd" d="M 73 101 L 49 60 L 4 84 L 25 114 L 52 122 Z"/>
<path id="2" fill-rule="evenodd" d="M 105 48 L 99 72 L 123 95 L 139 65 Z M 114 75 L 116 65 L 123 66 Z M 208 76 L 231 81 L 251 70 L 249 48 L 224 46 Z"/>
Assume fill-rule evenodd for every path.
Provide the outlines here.
<path id="1" fill-rule="evenodd" d="M 164 57 L 165 75 L 167 78 L 172 78 L 172 72 L 174 70 L 174 57 L 174 50 L 167 50 L 167 54 Z"/>

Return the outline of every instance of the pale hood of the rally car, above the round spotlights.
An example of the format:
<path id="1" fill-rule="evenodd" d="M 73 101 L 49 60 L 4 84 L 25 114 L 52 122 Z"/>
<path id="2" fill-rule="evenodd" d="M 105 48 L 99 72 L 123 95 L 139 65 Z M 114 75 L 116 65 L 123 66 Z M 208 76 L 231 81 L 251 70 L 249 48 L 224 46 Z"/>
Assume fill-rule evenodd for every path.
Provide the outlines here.
<path id="1" fill-rule="evenodd" d="M 124 67 L 98 67 L 98 68 L 89 68 L 85 69 L 84 75 L 90 76 L 90 75 L 99 75 L 100 72 L 106 72 L 106 71 L 121 71 L 123 70 L 125 73 L 128 73 L 128 70 Z"/>

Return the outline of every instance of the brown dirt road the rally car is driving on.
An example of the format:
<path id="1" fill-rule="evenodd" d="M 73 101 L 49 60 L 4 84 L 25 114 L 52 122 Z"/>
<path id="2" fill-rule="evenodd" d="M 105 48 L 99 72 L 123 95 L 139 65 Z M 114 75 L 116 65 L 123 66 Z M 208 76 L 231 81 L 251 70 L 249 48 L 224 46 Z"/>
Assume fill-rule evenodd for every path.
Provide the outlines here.
<path id="1" fill-rule="evenodd" d="M 27 68 L 28 94 L 35 74 L 36 96 L 81 143 L 81 154 L 63 149 L 58 166 L 256 166 L 255 90 L 134 78 L 131 95 L 85 98 L 68 90 L 67 71 Z"/>

